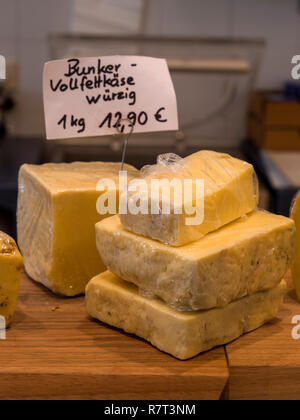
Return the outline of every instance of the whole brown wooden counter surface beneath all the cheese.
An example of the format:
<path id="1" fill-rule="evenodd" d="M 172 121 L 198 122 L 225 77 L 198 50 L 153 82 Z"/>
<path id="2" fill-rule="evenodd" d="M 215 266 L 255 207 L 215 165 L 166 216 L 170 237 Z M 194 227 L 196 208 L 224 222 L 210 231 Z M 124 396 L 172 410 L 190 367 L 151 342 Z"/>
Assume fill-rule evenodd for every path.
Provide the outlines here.
<path id="1" fill-rule="evenodd" d="M 300 340 L 289 292 L 278 318 L 181 362 L 91 320 L 84 298 L 63 299 L 23 276 L 16 316 L 0 341 L 0 399 L 300 399 Z M 228 357 L 228 364 L 226 360 Z"/>

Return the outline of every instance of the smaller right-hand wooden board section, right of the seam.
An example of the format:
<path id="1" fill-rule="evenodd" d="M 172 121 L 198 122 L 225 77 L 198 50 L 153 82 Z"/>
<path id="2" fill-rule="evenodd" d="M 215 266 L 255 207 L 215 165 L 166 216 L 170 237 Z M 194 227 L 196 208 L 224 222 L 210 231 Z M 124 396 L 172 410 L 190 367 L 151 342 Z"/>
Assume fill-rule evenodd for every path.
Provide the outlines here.
<path id="1" fill-rule="evenodd" d="M 292 338 L 292 319 L 300 315 L 290 276 L 278 318 L 226 347 L 230 399 L 299 400 L 300 340 Z"/>

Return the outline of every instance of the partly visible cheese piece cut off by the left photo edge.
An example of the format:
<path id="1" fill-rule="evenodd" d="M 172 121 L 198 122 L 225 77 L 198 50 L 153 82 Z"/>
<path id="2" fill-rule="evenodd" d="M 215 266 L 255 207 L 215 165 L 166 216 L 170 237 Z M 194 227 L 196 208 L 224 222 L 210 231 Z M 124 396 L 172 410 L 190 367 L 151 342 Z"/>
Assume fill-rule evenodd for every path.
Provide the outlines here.
<path id="1" fill-rule="evenodd" d="M 0 232 L 0 328 L 12 322 L 20 286 L 22 257 L 15 241 Z"/>

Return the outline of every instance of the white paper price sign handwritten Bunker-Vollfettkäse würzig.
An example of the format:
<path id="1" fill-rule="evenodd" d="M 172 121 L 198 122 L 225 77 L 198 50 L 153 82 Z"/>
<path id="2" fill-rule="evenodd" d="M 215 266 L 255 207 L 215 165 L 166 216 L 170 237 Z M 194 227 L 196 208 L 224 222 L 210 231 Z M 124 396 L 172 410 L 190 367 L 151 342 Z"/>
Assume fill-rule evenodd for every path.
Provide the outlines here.
<path id="1" fill-rule="evenodd" d="M 174 86 L 166 60 L 112 56 L 45 64 L 47 138 L 178 130 Z"/>

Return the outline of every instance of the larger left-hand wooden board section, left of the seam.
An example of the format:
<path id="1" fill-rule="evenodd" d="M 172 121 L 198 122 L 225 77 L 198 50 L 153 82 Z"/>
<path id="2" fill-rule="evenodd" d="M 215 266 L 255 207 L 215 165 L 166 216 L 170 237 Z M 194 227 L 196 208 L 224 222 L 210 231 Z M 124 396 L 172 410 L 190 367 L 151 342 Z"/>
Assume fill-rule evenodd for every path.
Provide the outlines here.
<path id="1" fill-rule="evenodd" d="M 223 347 L 178 361 L 26 275 L 0 354 L 0 399 L 216 400 L 228 382 Z"/>

